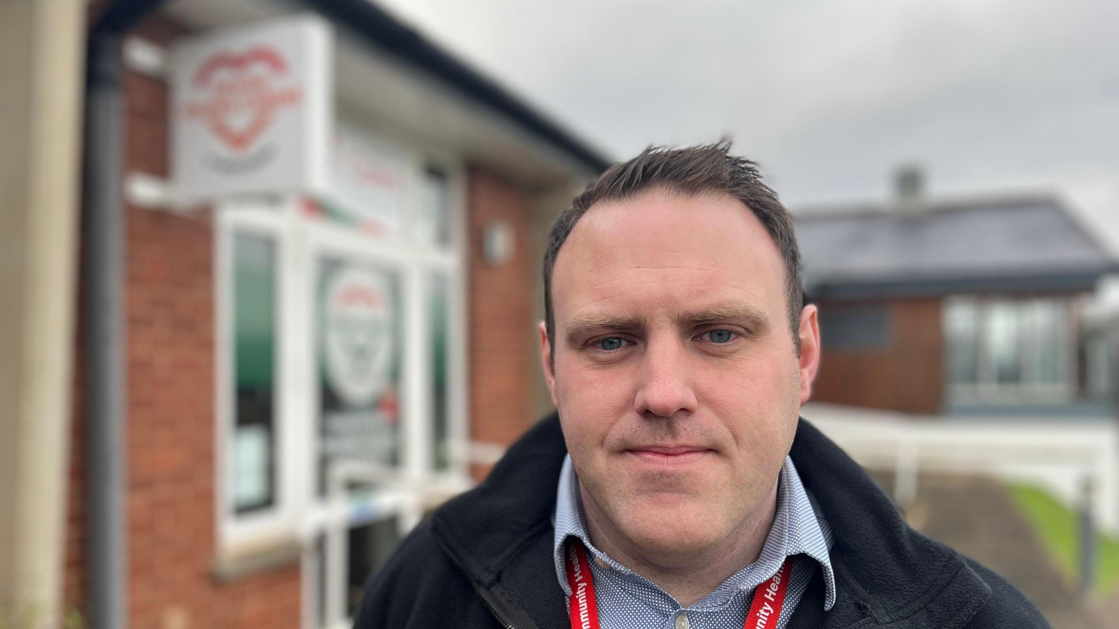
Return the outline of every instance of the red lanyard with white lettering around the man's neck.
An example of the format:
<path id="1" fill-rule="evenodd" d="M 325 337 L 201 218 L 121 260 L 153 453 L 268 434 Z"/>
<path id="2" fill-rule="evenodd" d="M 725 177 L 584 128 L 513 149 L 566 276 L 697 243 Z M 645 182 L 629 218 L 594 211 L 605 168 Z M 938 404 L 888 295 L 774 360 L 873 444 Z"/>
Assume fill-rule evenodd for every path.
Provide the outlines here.
<path id="1" fill-rule="evenodd" d="M 594 579 L 591 576 L 591 563 L 586 561 L 586 548 L 577 539 L 568 538 L 566 556 L 567 584 L 571 585 L 571 595 L 567 597 L 571 627 L 599 629 L 599 603 L 594 598 Z M 792 557 L 786 557 L 781 570 L 754 590 L 754 600 L 750 603 L 750 613 L 746 614 L 743 629 L 777 627 L 777 620 L 781 618 L 781 608 L 784 607 L 790 572 L 792 572 Z"/>

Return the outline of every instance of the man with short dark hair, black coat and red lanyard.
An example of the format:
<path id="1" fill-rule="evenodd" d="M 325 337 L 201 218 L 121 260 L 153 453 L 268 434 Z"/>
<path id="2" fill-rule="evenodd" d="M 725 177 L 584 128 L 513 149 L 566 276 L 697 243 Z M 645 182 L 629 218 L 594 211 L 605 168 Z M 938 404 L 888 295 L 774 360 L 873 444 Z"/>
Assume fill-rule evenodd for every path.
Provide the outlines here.
<path id="1" fill-rule="evenodd" d="M 820 357 L 792 222 L 728 144 L 649 149 L 556 220 L 558 409 L 422 523 L 357 627 L 1047 627 L 799 419 Z"/>

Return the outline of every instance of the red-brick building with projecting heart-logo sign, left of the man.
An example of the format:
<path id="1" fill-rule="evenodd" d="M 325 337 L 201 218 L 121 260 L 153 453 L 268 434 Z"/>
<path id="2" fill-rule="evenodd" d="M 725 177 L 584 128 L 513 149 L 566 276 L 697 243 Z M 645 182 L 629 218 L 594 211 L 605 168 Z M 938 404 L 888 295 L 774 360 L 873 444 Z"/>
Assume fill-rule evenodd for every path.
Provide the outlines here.
<path id="1" fill-rule="evenodd" d="M 366 0 L 90 24 L 65 605 L 348 627 L 545 409 L 542 243 L 606 162 Z"/>

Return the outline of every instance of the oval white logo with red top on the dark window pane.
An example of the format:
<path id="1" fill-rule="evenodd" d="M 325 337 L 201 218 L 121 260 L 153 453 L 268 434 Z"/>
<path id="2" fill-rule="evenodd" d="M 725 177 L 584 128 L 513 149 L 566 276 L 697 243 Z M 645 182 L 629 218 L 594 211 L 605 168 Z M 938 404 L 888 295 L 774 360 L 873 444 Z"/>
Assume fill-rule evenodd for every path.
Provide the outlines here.
<path id="1" fill-rule="evenodd" d="M 372 404 L 388 383 L 393 314 L 386 283 L 382 275 L 349 267 L 327 285 L 327 381 L 350 406 Z"/>

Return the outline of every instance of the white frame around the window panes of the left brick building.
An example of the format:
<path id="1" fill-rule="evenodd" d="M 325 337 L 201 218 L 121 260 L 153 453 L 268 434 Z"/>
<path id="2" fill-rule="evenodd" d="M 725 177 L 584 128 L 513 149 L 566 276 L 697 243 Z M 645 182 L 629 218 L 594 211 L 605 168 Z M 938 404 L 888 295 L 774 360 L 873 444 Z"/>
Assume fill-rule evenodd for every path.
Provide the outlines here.
<path id="1" fill-rule="evenodd" d="M 405 151 L 408 159 L 402 235 L 379 240 L 310 217 L 300 197 L 242 197 L 215 204 L 215 527 L 220 555 L 238 555 L 270 543 L 302 544 L 303 627 L 319 629 L 314 617 L 318 582 L 316 541 L 326 536 L 326 627 L 349 627 L 345 609 L 346 558 L 349 527 L 380 517 L 399 517 L 401 533 L 419 523 L 432 503 L 471 485 L 468 428 L 468 247 L 466 169 L 454 156 L 438 151 Z M 450 246 L 417 242 L 411 222 L 422 201 L 422 177 L 434 167 L 448 177 Z M 261 234 L 276 252 L 276 367 L 275 367 L 275 504 L 261 511 L 236 514 L 232 507 L 233 429 L 233 244 L 237 233 Z M 378 480 L 369 499 L 352 501 L 338 491 L 320 499 L 316 487 L 319 429 L 319 383 L 316 355 L 316 299 L 318 259 L 337 254 L 399 271 L 404 346 L 401 374 L 402 450 L 397 473 L 346 464 L 337 470 L 346 479 Z M 448 280 L 448 440 L 449 466 L 436 471 L 432 460 L 433 415 L 430 405 L 431 335 L 429 279 Z"/>

